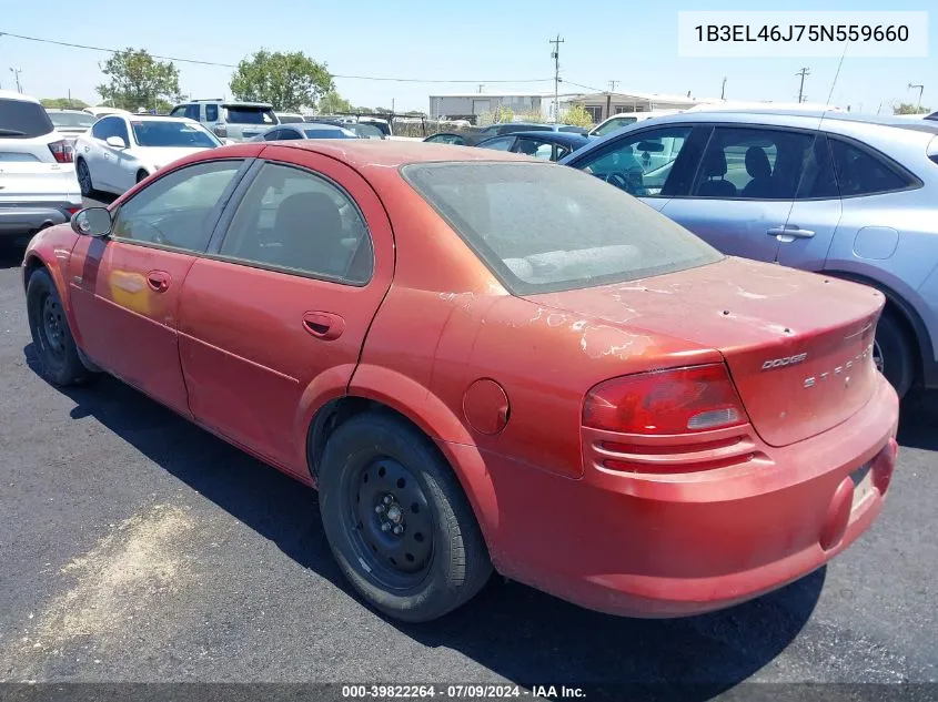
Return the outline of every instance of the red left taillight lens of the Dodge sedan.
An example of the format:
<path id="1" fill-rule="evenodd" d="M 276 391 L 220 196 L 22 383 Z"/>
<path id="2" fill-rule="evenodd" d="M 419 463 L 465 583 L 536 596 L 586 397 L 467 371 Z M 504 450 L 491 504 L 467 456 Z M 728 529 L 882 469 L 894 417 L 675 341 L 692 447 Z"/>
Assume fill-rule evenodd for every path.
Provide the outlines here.
<path id="1" fill-rule="evenodd" d="M 584 426 L 623 434 L 690 434 L 747 420 L 723 364 L 613 378 L 589 390 L 583 408 Z"/>

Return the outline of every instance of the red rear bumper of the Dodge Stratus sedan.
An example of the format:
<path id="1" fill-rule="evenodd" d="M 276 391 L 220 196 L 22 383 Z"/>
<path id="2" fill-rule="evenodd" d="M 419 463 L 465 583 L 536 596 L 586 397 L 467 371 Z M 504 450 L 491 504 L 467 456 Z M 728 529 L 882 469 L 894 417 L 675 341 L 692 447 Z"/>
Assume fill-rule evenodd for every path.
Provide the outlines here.
<path id="1" fill-rule="evenodd" d="M 777 449 L 753 433 L 767 460 L 744 466 L 642 476 L 587 466 L 571 480 L 447 449 L 470 462 L 475 451 L 494 484 L 496 518 L 483 530 L 500 572 L 589 609 L 663 618 L 758 597 L 846 549 L 882 509 L 897 425 L 898 399 L 878 376 L 871 400 L 819 436 Z M 866 464 L 874 487 L 854 503 L 850 475 Z"/>

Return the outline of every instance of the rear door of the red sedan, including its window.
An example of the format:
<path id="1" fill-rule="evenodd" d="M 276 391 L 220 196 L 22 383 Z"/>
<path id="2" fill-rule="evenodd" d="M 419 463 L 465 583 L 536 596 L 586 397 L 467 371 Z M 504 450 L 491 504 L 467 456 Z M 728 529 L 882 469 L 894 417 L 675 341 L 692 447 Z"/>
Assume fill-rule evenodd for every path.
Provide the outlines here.
<path id="1" fill-rule="evenodd" d="M 391 284 L 391 224 L 351 167 L 268 146 L 182 292 L 180 349 L 196 420 L 305 470 L 317 383 L 344 387 Z"/>

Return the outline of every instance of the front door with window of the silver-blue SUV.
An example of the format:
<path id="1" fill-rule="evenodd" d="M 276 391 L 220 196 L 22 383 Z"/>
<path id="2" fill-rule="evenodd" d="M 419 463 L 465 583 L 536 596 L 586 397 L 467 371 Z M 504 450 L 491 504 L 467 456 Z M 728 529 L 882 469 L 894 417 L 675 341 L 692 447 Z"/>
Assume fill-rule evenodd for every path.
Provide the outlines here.
<path id="1" fill-rule="evenodd" d="M 567 165 L 662 211 L 673 197 L 689 194 L 708 136 L 708 128 L 689 124 L 633 130 Z"/>

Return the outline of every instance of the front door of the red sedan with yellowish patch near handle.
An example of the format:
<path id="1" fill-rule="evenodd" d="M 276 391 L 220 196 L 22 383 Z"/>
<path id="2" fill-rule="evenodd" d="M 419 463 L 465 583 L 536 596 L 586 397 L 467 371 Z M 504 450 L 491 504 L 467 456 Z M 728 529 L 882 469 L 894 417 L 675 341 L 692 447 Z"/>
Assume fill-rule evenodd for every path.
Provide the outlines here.
<path id="1" fill-rule="evenodd" d="M 244 163 L 202 161 L 167 173 L 111 213 L 108 237 L 80 237 L 70 258 L 82 349 L 183 415 L 176 336 L 183 281 Z"/>

